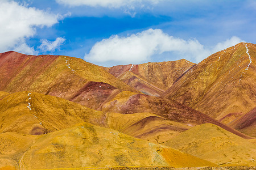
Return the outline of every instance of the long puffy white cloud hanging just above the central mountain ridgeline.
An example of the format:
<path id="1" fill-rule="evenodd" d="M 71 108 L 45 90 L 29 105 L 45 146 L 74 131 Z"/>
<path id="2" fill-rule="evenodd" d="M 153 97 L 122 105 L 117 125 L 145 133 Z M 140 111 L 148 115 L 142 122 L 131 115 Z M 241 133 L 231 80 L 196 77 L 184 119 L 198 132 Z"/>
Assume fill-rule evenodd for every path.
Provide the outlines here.
<path id="1" fill-rule="evenodd" d="M 218 49 L 224 49 L 241 42 L 232 37 L 207 49 L 196 39 L 183 40 L 164 33 L 161 29 L 147 29 L 137 34 L 119 37 L 111 36 L 94 44 L 84 59 L 90 62 L 117 62 L 122 64 L 142 63 L 162 53 L 175 54 L 177 58 L 186 58 L 200 62 Z"/>

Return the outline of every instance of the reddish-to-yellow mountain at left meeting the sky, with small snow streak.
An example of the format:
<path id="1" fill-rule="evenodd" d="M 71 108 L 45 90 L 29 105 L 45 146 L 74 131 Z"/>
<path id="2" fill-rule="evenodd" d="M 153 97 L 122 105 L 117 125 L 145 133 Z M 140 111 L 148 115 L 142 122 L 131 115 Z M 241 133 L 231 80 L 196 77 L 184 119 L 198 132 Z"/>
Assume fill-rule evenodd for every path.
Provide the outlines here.
<path id="1" fill-rule="evenodd" d="M 49 55 L 27 56 L 16 52 L 6 52 L 0 53 L 0 67 L 0 91 L 34 91 L 67 100 L 76 98 L 77 102 L 90 107 L 93 105 L 88 98 L 95 101 L 102 100 L 102 95 L 108 97 L 115 88 L 120 91 L 135 92 L 133 88 L 101 67 L 80 58 Z M 111 90 L 108 86 L 101 88 L 97 82 L 109 84 Z M 90 90 L 95 88 L 100 89 L 101 93 L 88 97 Z M 94 109 L 96 107 L 98 106 L 94 106 Z"/>

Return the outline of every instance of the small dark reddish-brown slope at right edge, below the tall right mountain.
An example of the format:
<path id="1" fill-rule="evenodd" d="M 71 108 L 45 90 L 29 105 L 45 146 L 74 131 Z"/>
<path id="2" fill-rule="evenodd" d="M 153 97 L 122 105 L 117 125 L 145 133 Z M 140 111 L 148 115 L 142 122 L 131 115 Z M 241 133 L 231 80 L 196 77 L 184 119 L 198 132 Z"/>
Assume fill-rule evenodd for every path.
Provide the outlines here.
<path id="1" fill-rule="evenodd" d="M 244 134 L 256 137 L 256 107 L 237 120 L 231 122 L 229 126 L 241 131 Z"/>

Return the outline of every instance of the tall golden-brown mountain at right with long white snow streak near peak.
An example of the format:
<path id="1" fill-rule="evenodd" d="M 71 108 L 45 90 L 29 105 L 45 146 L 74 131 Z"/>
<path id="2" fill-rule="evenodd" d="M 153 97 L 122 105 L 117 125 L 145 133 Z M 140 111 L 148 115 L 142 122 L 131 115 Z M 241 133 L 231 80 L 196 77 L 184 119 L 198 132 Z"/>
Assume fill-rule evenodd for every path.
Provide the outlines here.
<path id="1" fill-rule="evenodd" d="M 237 44 L 204 59 L 163 96 L 228 123 L 256 106 L 255 61 L 255 44 Z"/>

